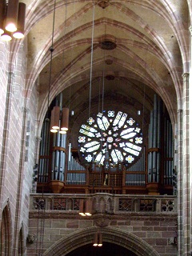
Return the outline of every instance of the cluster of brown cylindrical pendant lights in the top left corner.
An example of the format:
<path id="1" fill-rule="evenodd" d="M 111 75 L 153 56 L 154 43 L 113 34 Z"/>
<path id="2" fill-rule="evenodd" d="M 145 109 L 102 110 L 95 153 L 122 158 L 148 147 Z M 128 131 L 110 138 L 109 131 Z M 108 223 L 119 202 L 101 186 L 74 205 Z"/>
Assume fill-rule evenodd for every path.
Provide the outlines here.
<path id="1" fill-rule="evenodd" d="M 24 37 L 26 4 L 18 0 L 0 1 L 0 38 L 10 41 Z"/>

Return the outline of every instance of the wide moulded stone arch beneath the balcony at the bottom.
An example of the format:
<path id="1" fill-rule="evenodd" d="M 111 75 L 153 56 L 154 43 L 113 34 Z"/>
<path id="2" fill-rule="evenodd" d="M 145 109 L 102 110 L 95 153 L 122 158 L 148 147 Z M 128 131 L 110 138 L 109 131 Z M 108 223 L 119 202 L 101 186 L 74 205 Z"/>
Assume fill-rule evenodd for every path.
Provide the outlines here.
<path id="1" fill-rule="evenodd" d="M 122 246 L 127 250 L 134 252 L 138 256 L 159 256 L 156 250 L 142 238 L 131 234 L 125 230 L 119 230 L 114 227 L 102 228 L 102 241 L 114 243 Z M 65 256 L 78 247 L 91 244 L 94 240 L 94 234 L 98 232 L 97 227 L 90 227 L 83 230 L 75 231 L 73 234 L 60 239 L 56 244 L 46 250 L 43 256 Z"/>

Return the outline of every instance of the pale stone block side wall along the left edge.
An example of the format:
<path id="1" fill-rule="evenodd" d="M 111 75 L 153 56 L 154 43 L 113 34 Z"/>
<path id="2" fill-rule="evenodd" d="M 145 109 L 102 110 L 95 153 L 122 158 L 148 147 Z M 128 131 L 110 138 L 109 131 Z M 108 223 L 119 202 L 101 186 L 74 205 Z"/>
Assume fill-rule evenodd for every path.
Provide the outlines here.
<path id="1" fill-rule="evenodd" d="M 30 98 L 26 98 L 26 42 L 20 43 L 15 55 L 10 51 L 10 44 L 0 42 L 0 54 L 0 219 L 3 210 L 8 209 L 6 219 L 10 223 L 7 230 L 10 254 L 18 251 L 19 234 L 23 236 L 20 247 L 24 254 L 36 146 L 34 127 L 38 95 L 34 86 Z M 26 144 L 27 132 L 30 133 L 29 145 Z"/>

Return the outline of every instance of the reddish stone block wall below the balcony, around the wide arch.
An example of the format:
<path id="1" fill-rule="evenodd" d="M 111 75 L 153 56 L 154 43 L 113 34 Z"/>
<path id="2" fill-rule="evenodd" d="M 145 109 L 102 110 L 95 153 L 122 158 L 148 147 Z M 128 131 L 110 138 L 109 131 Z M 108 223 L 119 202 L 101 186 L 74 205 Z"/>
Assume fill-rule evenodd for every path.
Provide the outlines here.
<path id="1" fill-rule="evenodd" d="M 73 195 L 71 195 L 72 197 Z M 98 194 L 96 197 L 98 198 Z M 105 196 L 102 194 L 102 198 L 104 200 L 106 198 L 106 201 L 109 202 L 110 195 Z M 117 198 L 119 199 L 120 196 Z M 126 198 L 126 196 L 123 198 Z M 94 202 L 94 199 L 95 197 L 93 196 L 91 198 L 92 202 Z M 127 241 L 133 238 L 134 250 L 133 246 L 131 248 L 127 247 L 127 249 L 133 250 L 135 253 L 139 251 L 138 255 L 177 255 L 176 213 L 169 210 L 158 211 L 158 203 L 155 206 L 156 210 L 149 210 L 148 212 L 141 211 L 141 207 L 138 210 L 138 206 L 134 206 L 134 211 L 128 208 L 122 210 L 122 208 L 118 207 L 119 203 L 117 203 L 120 201 L 116 199 L 114 199 L 114 202 L 113 200 L 111 201 L 114 206 L 112 211 L 106 210 L 107 208 L 110 209 L 110 207 L 106 206 L 102 212 L 93 210 L 93 214 L 90 217 L 80 216 L 78 214 L 79 210 L 62 208 L 56 210 L 48 203 L 45 209 L 36 207 L 35 210 L 34 206 L 34 210 L 30 210 L 29 222 L 29 234 L 34 237 L 34 242 L 27 244 L 27 255 L 35 255 L 39 248 L 47 256 L 66 255 L 74 250 L 75 246 L 78 248 L 92 243 L 94 241 L 94 233 L 97 231 L 102 233 L 103 245 L 105 242 L 113 243 L 112 234 L 118 232 L 115 243 L 119 246 L 127 247 L 128 243 L 122 244 L 121 237 Z M 98 199 L 98 202 L 101 201 Z M 94 206 L 92 205 L 92 207 Z M 96 208 L 102 209 L 98 205 Z M 74 241 L 74 237 L 77 238 L 77 241 Z M 66 244 L 66 247 L 68 246 L 67 251 L 66 247 L 63 246 L 64 244 Z M 145 251 L 142 252 L 139 245 L 144 246 L 146 248 Z"/>

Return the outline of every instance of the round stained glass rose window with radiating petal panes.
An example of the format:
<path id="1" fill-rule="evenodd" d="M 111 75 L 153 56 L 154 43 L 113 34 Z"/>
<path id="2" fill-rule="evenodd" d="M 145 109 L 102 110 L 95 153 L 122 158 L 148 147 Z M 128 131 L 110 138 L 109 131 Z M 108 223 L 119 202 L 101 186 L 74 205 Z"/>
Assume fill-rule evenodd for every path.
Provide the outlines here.
<path id="1" fill-rule="evenodd" d="M 142 131 L 126 113 L 109 110 L 89 118 L 79 130 L 78 147 L 86 162 L 133 164 L 142 152 Z"/>

